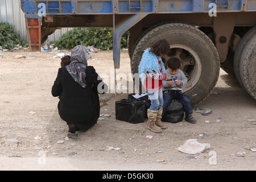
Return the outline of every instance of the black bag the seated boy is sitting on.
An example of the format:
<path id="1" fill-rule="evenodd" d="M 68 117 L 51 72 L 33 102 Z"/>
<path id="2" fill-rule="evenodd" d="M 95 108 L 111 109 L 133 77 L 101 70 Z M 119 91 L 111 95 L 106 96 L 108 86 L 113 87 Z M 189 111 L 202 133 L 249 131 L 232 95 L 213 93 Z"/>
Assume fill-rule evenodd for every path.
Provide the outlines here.
<path id="1" fill-rule="evenodd" d="M 162 121 L 177 123 L 183 120 L 184 110 L 183 105 L 180 101 L 172 100 L 166 113 L 164 113 Z"/>

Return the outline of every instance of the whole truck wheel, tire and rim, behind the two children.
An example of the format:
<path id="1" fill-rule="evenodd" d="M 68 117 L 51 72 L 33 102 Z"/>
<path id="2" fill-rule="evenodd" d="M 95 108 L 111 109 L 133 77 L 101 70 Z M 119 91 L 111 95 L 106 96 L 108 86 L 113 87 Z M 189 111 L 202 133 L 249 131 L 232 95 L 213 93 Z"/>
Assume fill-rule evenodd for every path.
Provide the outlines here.
<path id="1" fill-rule="evenodd" d="M 155 27 L 135 47 L 131 60 L 132 73 L 138 73 L 144 50 L 159 39 L 166 39 L 170 43 L 171 52 L 164 57 L 164 63 L 168 58 L 177 55 L 181 60 L 182 69 L 189 79 L 183 91 L 191 98 L 192 105 L 204 101 L 216 85 L 220 73 L 220 60 L 212 40 L 198 28 L 184 23 L 168 23 Z"/>

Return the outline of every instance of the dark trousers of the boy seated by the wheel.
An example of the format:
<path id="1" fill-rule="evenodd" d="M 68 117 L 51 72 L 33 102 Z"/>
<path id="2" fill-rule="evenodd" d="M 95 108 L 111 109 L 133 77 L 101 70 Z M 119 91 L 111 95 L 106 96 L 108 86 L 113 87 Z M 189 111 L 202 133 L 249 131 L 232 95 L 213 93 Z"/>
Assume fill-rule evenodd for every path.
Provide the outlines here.
<path id="1" fill-rule="evenodd" d="M 193 113 L 192 107 L 191 107 L 191 100 L 189 99 L 188 96 L 185 96 L 185 94 L 182 93 L 181 90 L 164 90 L 163 91 L 164 104 L 163 104 L 162 117 L 163 117 L 164 113 L 166 112 L 166 110 L 168 109 L 168 107 L 170 106 L 172 100 L 174 100 L 174 99 L 180 101 L 183 104 L 186 117 L 189 114 Z"/>

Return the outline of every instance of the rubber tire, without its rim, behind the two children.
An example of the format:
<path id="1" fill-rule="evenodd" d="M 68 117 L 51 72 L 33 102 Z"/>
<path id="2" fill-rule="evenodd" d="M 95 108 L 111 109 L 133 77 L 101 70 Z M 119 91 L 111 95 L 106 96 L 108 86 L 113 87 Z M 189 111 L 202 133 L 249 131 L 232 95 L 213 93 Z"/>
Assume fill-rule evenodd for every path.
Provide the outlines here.
<path id="1" fill-rule="evenodd" d="M 220 60 L 212 40 L 198 28 L 184 23 L 168 23 L 147 32 L 134 49 L 131 60 L 131 72 L 138 73 L 138 65 L 144 49 L 156 40 L 166 39 L 170 45 L 187 46 L 197 53 L 201 64 L 201 75 L 196 84 L 186 94 L 191 98 L 192 105 L 204 101 L 216 85 L 220 73 Z M 189 85 L 191 83 L 187 83 Z"/>

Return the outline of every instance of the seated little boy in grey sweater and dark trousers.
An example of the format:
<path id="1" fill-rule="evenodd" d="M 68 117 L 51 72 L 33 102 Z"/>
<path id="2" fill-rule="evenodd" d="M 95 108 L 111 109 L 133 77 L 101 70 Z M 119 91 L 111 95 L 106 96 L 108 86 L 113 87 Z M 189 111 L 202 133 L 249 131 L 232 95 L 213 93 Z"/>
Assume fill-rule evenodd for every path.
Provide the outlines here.
<path id="1" fill-rule="evenodd" d="M 189 123 L 196 123 L 196 119 L 192 117 L 191 100 L 188 96 L 182 93 L 182 86 L 187 84 L 187 77 L 185 77 L 183 71 L 180 70 L 181 63 L 176 57 L 172 57 L 167 61 L 166 74 L 170 78 L 169 80 L 163 81 L 163 114 L 166 112 L 168 106 L 172 100 L 176 99 L 180 101 L 184 106 L 185 121 Z"/>

